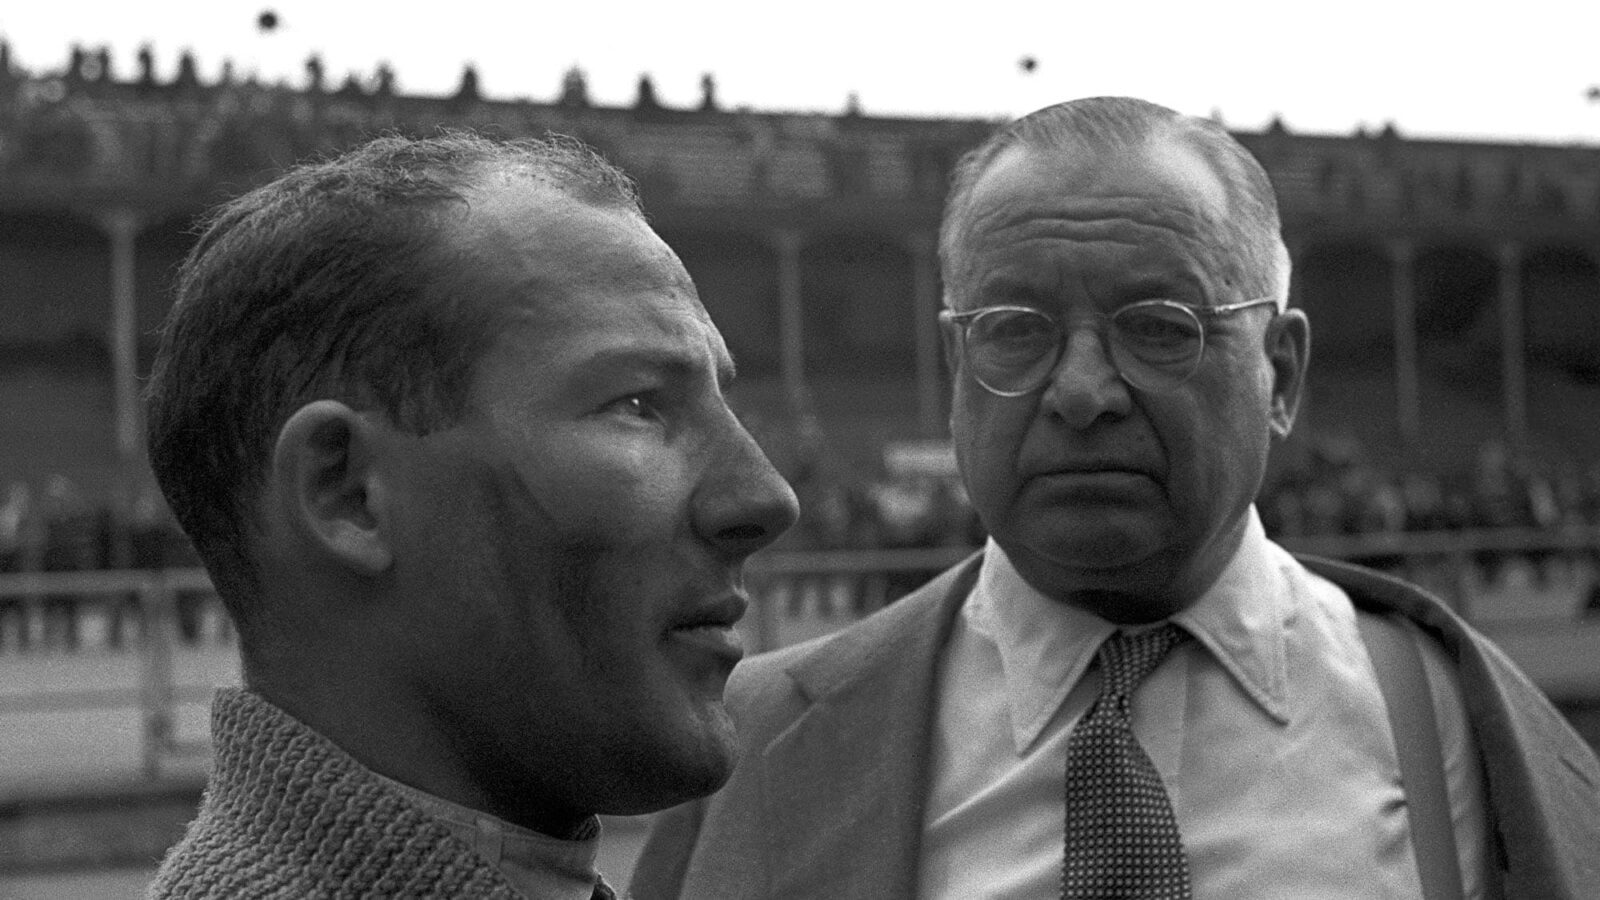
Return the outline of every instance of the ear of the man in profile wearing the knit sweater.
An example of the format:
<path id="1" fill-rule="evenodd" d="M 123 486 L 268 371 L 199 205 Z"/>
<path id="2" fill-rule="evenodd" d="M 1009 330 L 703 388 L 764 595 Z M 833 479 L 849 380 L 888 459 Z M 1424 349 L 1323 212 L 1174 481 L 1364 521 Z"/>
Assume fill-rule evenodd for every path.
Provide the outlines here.
<path id="1" fill-rule="evenodd" d="M 267 490 L 285 525 L 314 551 L 363 575 L 394 564 L 376 503 L 382 428 L 338 400 L 315 400 L 283 423 L 272 448 Z"/>

